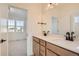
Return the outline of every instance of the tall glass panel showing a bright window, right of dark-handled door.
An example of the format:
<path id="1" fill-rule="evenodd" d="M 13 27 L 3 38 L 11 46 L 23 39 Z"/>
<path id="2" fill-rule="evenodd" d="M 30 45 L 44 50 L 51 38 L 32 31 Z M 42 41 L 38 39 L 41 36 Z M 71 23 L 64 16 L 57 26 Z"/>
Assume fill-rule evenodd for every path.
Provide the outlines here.
<path id="1" fill-rule="evenodd" d="M 9 7 L 8 20 L 8 55 L 26 56 L 26 11 Z"/>

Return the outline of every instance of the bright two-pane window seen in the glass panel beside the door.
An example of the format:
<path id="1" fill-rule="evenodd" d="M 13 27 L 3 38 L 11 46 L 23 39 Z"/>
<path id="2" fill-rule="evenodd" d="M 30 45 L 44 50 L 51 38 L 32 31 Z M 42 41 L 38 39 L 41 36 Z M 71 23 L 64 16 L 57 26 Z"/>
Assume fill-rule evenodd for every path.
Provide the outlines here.
<path id="1" fill-rule="evenodd" d="M 8 32 L 23 32 L 24 21 L 22 20 L 8 20 Z"/>

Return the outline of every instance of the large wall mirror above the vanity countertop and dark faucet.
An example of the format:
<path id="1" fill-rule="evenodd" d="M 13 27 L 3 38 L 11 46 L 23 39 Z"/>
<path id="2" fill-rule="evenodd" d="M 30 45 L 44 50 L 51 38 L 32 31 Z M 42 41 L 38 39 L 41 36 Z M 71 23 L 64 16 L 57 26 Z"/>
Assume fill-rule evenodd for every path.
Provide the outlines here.
<path id="1" fill-rule="evenodd" d="M 42 22 L 47 23 L 42 26 L 42 30 L 50 31 L 51 34 L 65 35 L 66 32 L 74 31 L 79 35 L 79 4 L 60 3 L 57 6 L 46 9 L 47 4 L 43 4 Z"/>

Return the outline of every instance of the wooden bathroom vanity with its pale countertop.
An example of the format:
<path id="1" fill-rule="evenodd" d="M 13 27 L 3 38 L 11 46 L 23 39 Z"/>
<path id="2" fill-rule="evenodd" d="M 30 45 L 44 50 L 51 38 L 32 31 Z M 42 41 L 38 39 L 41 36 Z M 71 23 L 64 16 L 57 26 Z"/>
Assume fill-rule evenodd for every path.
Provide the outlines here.
<path id="1" fill-rule="evenodd" d="M 78 56 L 79 41 L 67 41 L 63 36 L 33 36 L 34 56 Z"/>

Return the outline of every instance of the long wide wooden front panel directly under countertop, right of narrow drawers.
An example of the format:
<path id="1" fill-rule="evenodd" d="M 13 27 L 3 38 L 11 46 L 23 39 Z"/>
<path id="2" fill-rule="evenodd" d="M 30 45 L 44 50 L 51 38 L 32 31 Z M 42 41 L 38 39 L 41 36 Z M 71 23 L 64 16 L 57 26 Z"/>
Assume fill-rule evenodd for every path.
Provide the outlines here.
<path id="1" fill-rule="evenodd" d="M 47 42 L 47 46 L 48 49 L 50 49 L 51 51 L 54 51 L 55 53 L 61 55 L 61 56 L 77 56 L 76 53 L 73 53 L 71 51 L 68 51 L 66 49 L 60 48 L 58 46 L 55 46 L 51 43 Z"/>

